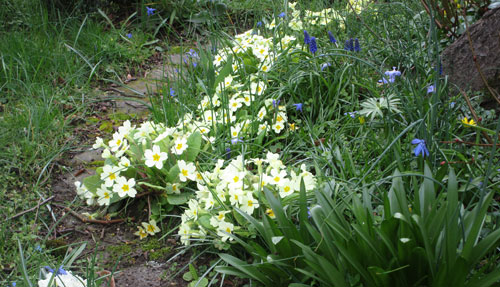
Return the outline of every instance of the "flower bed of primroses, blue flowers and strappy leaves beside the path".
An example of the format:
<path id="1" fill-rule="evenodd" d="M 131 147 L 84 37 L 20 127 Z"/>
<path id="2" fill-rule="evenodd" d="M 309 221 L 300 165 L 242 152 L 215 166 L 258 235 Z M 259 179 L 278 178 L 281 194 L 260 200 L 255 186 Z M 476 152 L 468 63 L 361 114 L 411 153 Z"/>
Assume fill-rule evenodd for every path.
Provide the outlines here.
<path id="1" fill-rule="evenodd" d="M 75 182 L 91 217 L 134 215 L 138 242 L 173 236 L 173 257 L 212 254 L 203 274 L 185 266 L 190 286 L 499 284 L 498 109 L 448 85 L 432 11 L 257 11 L 248 30 L 180 49 L 151 118 L 97 137 L 103 161 Z M 8 284 L 106 280 L 97 256 L 75 268 L 83 247 L 54 265 L 26 241 Z"/>

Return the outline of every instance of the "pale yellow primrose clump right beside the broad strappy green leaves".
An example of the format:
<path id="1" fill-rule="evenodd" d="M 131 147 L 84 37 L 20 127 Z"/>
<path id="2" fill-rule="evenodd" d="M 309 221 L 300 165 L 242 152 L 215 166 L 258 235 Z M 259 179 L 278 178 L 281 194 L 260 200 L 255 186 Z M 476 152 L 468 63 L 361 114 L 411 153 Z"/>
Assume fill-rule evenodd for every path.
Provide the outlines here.
<path id="1" fill-rule="evenodd" d="M 266 208 L 263 188 L 268 188 L 282 199 L 293 197 L 304 181 L 306 191 L 316 186 L 316 178 L 306 166 L 300 170 L 288 168 L 278 154 L 268 152 L 266 158 L 245 160 L 238 156 L 224 167 L 219 160 L 213 171 L 202 172 L 197 179 L 196 198 L 182 214 L 179 228 L 181 242 L 189 245 L 190 240 L 212 240 L 222 248 L 231 234 L 248 233 L 245 226 L 236 220 L 235 208 L 255 216 L 256 209 Z M 266 214 L 274 218 L 273 211 L 266 208 Z"/>

